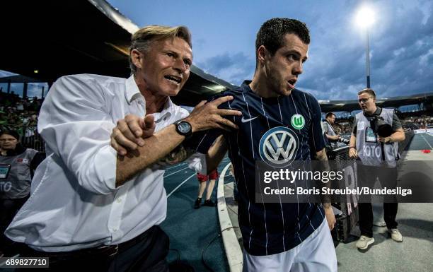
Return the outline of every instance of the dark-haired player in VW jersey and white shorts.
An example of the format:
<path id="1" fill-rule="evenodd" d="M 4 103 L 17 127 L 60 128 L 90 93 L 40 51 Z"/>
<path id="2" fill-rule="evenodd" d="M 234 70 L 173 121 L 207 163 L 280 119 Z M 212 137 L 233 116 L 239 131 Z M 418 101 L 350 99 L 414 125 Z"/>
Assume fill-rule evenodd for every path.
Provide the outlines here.
<path id="1" fill-rule="evenodd" d="M 239 191 L 243 271 L 337 271 L 330 203 L 255 202 L 256 160 L 308 161 L 311 154 L 328 160 L 318 101 L 295 88 L 309 43 L 308 28 L 299 20 L 267 20 L 255 42 L 253 81 L 218 95 L 234 97 L 219 108 L 242 112 L 226 117 L 239 129 L 194 134 L 194 114 L 184 119 L 194 134 L 187 142 L 207 153 L 207 170 L 217 167 L 229 149 Z"/>

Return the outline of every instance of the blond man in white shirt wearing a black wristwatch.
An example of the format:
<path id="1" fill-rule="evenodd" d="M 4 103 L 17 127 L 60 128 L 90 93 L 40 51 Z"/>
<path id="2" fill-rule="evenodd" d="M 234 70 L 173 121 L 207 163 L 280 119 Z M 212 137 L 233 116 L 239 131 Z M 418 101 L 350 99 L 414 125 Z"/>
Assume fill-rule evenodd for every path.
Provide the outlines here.
<path id="1" fill-rule="evenodd" d="M 129 78 L 63 76 L 42 105 L 38 132 L 47 159 L 5 234 L 23 243 L 21 256 L 49 256 L 54 271 L 168 271 L 168 237 L 158 227 L 166 218 L 164 171 L 157 162 L 192 132 L 237 128 L 221 116 L 241 113 L 217 108 L 233 97 L 200 102 L 189 116 L 171 102 L 190 75 L 187 28 L 142 28 L 129 53 Z M 143 132 L 129 146 L 134 152 L 120 147 L 117 154 L 110 142 L 130 133 L 115 128 L 119 119 L 137 120 L 129 114 L 144 117 Z"/>

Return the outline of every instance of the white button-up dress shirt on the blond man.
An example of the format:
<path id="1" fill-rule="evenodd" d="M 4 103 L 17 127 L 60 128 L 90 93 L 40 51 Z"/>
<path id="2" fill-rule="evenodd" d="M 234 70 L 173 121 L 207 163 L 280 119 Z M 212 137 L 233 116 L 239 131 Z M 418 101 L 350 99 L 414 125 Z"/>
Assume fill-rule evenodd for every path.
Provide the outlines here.
<path id="1" fill-rule="evenodd" d="M 40 251 L 64 252 L 120 244 L 161 223 L 167 209 L 163 170 L 147 168 L 115 187 L 110 134 L 125 115 L 144 117 L 145 105 L 133 76 L 59 78 L 38 123 L 47 158 L 6 236 Z M 168 99 L 154 114 L 156 131 L 187 114 Z"/>

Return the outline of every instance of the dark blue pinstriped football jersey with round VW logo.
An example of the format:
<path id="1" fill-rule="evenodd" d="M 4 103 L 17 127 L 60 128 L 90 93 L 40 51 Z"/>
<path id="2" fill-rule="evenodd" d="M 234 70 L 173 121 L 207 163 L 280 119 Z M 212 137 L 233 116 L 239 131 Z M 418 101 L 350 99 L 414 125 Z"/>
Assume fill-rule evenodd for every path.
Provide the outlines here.
<path id="1" fill-rule="evenodd" d="M 311 154 L 322 150 L 325 141 L 318 101 L 296 89 L 288 96 L 264 98 L 247 84 L 213 99 L 225 95 L 234 99 L 219 107 L 243 113 L 226 117 L 239 129 L 203 131 L 187 142 L 207 153 L 214 140 L 224 134 L 239 191 L 238 220 L 246 251 L 270 255 L 292 249 L 321 225 L 323 208 L 318 203 L 256 203 L 255 161 L 311 160 Z"/>

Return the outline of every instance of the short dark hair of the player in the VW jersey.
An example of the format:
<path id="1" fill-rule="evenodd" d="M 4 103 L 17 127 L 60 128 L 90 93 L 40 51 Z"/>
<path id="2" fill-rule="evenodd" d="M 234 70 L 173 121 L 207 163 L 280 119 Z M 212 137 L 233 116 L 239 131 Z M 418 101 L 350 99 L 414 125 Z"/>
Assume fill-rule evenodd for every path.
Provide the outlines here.
<path id="1" fill-rule="evenodd" d="M 284 35 L 295 34 L 306 45 L 310 44 L 310 31 L 305 23 L 289 18 L 272 18 L 262 24 L 255 39 L 255 54 L 264 45 L 272 55 L 284 44 Z"/>

